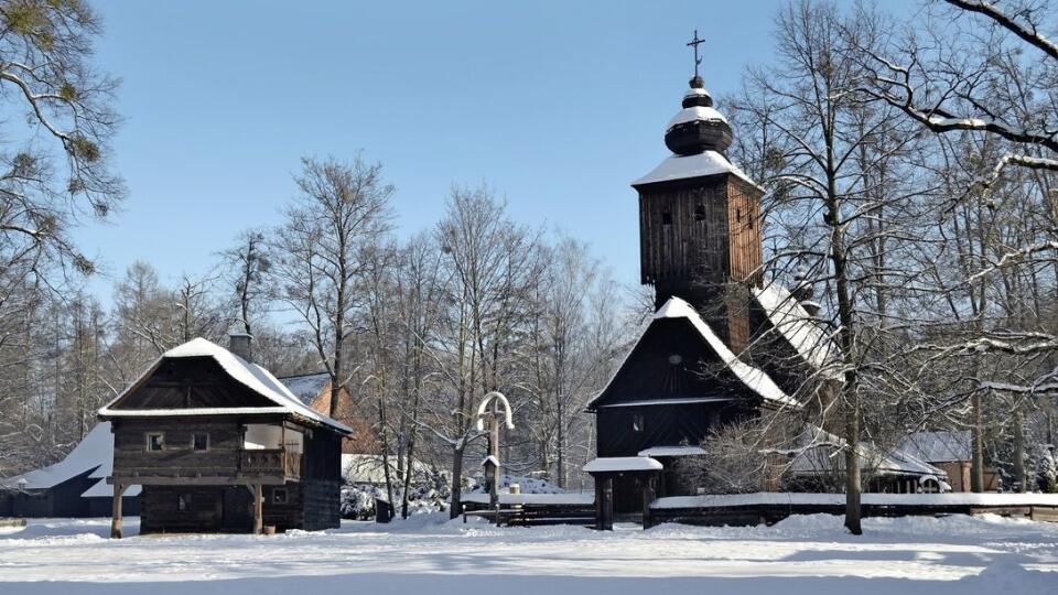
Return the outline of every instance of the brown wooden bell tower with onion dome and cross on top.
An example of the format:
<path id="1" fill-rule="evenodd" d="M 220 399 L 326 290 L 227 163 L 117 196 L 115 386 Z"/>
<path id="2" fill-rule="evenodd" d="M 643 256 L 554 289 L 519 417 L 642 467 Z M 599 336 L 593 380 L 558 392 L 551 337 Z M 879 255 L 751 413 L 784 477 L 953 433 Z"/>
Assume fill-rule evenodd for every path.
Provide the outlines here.
<path id="1" fill-rule="evenodd" d="M 672 155 L 633 182 L 639 193 L 640 281 L 688 301 L 736 351 L 748 342 L 748 288 L 762 282 L 764 191 L 725 155 L 727 120 L 695 75 L 665 133 Z"/>

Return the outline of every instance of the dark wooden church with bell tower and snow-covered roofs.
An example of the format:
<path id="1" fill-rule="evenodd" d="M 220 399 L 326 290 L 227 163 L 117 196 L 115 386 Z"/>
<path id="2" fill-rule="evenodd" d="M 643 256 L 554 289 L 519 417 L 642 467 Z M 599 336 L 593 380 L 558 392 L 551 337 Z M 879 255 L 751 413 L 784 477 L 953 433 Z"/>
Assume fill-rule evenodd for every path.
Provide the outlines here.
<path id="1" fill-rule="evenodd" d="M 841 382 L 806 280 L 794 292 L 764 280 L 764 190 L 727 160 L 731 127 L 697 74 L 665 143 L 672 155 L 631 184 L 641 282 L 654 286 L 657 313 L 587 405 L 597 458 L 585 470 L 600 519 L 698 494 L 678 462 L 702 455 L 711 431 L 767 411 L 812 418 Z M 942 474 L 890 459 L 895 476 Z M 800 470 L 810 475 L 811 463 Z"/>

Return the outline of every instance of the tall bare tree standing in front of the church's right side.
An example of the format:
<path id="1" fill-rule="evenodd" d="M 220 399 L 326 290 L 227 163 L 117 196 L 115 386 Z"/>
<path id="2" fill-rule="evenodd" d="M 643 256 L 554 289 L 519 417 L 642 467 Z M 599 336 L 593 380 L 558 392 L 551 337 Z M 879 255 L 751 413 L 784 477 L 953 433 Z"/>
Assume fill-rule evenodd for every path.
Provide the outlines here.
<path id="1" fill-rule="evenodd" d="M 898 110 L 860 91 L 865 73 L 855 47 L 881 34 L 878 15 L 845 17 L 832 3 L 806 0 L 777 22 L 778 64 L 753 71 L 736 102 L 751 123 L 739 137 L 754 139 L 741 141 L 741 151 L 756 159 L 751 170 L 771 174 L 763 182 L 778 229 L 769 238 L 773 266 L 808 266 L 832 315 L 839 357 L 823 372 L 841 378 L 834 405 L 844 439 L 845 524 L 859 534 L 860 441 L 878 429 L 864 426 L 864 396 L 872 403 L 916 390 L 889 359 L 899 350 L 886 344 L 897 326 L 890 295 L 914 285 L 917 274 L 887 264 L 920 237 L 911 229 L 924 220 L 920 191 L 897 184 L 906 174 L 898 163 L 914 153 L 917 138 L 894 118 Z M 836 428 L 833 420 L 818 423 Z"/>

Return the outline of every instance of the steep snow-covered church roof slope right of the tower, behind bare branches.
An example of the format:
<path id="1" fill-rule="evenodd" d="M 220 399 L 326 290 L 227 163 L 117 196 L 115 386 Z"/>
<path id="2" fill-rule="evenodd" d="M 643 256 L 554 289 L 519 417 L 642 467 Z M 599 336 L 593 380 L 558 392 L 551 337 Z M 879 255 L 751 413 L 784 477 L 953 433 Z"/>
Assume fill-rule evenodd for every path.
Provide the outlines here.
<path id="1" fill-rule="evenodd" d="M 782 338 L 809 365 L 827 378 L 841 379 L 835 365 L 838 346 L 789 290 L 773 281 L 763 288 L 753 288 L 753 295 Z"/>

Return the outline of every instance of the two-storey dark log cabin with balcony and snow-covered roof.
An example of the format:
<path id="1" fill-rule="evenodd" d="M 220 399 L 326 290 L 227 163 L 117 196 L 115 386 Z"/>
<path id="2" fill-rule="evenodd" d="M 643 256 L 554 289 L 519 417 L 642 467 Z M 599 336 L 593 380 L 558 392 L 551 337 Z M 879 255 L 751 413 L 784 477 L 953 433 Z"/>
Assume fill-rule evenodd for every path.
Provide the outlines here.
<path id="1" fill-rule="evenodd" d="M 142 486 L 141 533 L 338 526 L 342 439 L 352 430 L 252 364 L 250 342 L 233 335 L 228 350 L 195 338 L 170 349 L 99 410 L 114 431 L 112 537 L 131 485 Z"/>

